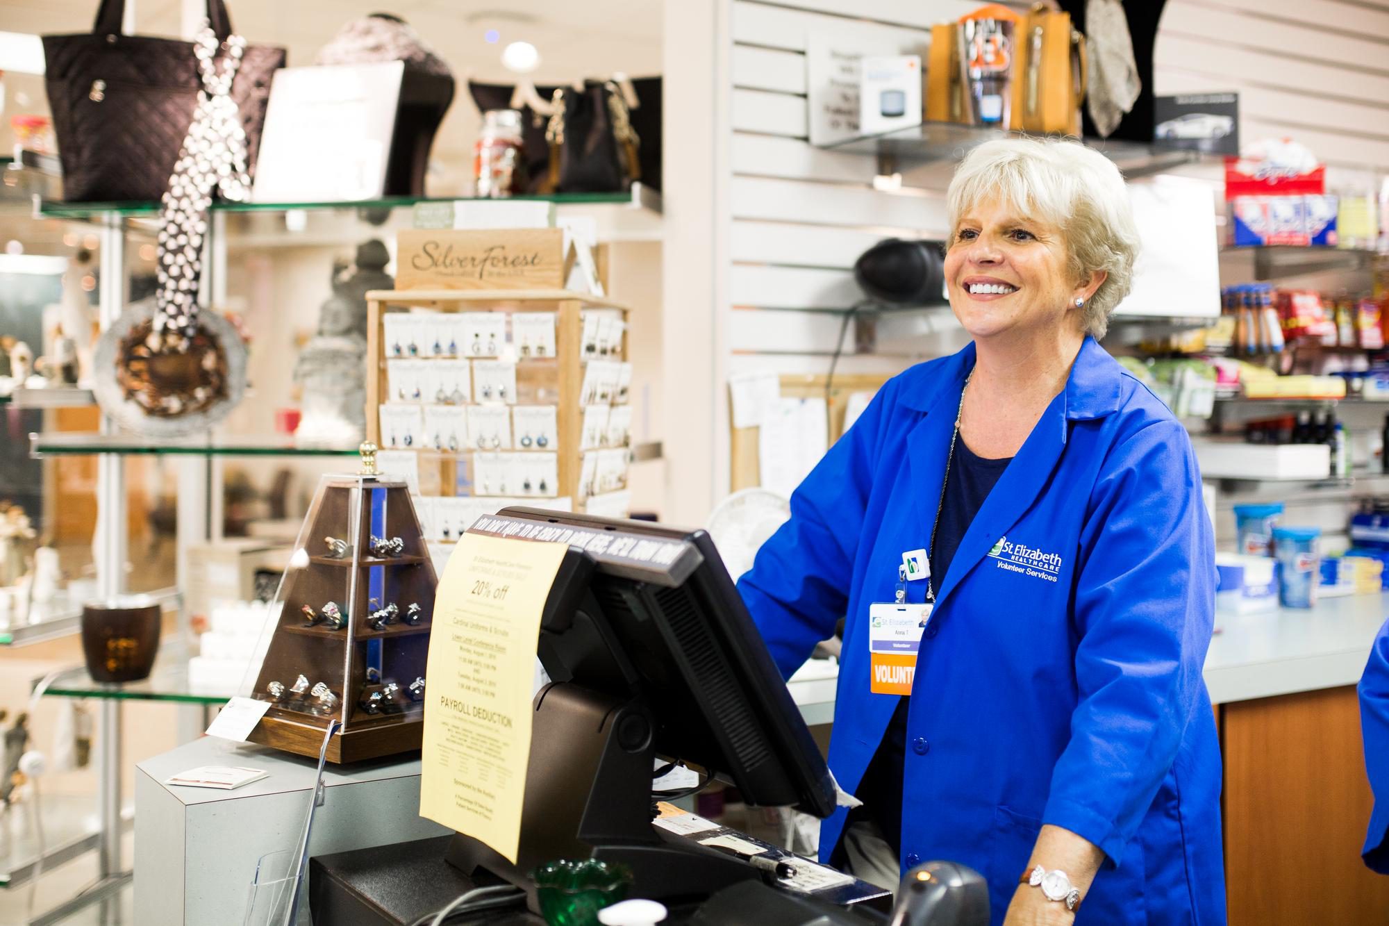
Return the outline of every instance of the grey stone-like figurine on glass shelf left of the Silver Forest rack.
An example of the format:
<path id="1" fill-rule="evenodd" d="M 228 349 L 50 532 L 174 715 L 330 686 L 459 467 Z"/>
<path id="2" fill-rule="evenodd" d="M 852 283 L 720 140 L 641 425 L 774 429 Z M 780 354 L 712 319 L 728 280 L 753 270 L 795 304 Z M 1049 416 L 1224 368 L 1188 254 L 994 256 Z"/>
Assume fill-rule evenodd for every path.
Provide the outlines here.
<path id="1" fill-rule="evenodd" d="M 376 239 L 357 249 L 356 273 L 333 264 L 333 295 L 318 316 L 318 332 L 294 364 L 303 389 L 303 417 L 294 439 L 300 445 L 351 444 L 367 430 L 367 292 L 390 289 L 385 273 L 390 254 Z"/>

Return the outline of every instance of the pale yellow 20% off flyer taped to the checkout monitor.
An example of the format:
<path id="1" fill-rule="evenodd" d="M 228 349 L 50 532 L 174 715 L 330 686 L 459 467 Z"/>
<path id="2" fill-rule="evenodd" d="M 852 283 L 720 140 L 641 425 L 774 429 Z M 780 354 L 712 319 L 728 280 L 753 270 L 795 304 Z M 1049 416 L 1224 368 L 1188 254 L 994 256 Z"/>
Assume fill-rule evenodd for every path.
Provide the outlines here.
<path id="1" fill-rule="evenodd" d="M 540 615 L 564 544 L 464 534 L 435 595 L 419 816 L 517 861 Z"/>

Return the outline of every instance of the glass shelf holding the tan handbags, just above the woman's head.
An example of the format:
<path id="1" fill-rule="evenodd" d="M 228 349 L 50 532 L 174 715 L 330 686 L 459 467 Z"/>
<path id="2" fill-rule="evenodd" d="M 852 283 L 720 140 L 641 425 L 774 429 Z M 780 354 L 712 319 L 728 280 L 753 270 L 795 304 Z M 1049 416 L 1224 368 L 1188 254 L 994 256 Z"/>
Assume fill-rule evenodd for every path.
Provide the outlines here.
<path id="1" fill-rule="evenodd" d="M 1000 138 L 1021 136 L 1024 132 L 988 128 L 981 125 L 958 125 L 956 122 L 921 122 L 904 129 L 881 135 L 858 135 L 833 142 L 824 147 L 853 154 L 876 154 L 881 160 L 921 164 L 931 161 L 953 161 L 964 157 L 971 149 Z M 1164 147 L 1157 143 L 1124 142 L 1114 139 L 1085 139 L 1085 143 L 1107 156 L 1129 179 L 1160 174 L 1183 164 L 1197 164 L 1210 159 L 1207 154 L 1189 149 Z M 893 163 L 883 164 L 883 174 L 896 172 Z"/>

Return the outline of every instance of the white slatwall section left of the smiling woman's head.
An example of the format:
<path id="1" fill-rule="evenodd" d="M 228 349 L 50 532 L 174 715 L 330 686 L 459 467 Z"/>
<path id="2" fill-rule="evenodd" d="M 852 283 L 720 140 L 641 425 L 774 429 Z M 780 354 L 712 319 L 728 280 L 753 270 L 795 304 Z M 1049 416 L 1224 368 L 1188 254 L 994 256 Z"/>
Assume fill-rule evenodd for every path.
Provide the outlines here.
<path id="1" fill-rule="evenodd" d="M 1026 8 L 1025 0 L 1010 6 Z M 874 159 L 806 140 L 810 36 L 820 32 L 924 54 L 932 24 L 975 8 L 972 0 L 733 1 L 729 299 L 735 311 L 728 335 L 736 356 L 767 352 L 782 371 L 822 373 L 839 331 L 835 310 L 863 296 L 851 273 L 858 254 L 882 238 L 946 234 L 939 172 L 921 174 L 933 178 L 929 192 L 878 192 Z M 914 177 L 908 174 L 907 182 Z M 854 350 L 851 341 L 846 338 L 847 352 Z M 918 342 L 926 343 L 913 341 Z M 795 352 L 803 352 L 799 367 Z M 896 356 L 860 362 L 874 371 L 906 366 L 907 350 L 889 353 Z"/>

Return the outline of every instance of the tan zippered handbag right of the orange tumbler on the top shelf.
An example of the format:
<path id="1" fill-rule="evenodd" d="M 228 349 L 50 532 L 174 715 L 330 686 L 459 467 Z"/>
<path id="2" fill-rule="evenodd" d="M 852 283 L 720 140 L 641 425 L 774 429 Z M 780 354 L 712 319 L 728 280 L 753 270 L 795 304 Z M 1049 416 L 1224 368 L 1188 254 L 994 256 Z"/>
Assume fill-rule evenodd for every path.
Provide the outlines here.
<path id="1" fill-rule="evenodd" d="M 1018 26 L 1008 128 L 1079 135 L 1089 79 L 1085 36 L 1071 25 L 1071 14 L 1043 3 L 1033 6 Z"/>

